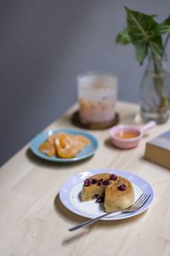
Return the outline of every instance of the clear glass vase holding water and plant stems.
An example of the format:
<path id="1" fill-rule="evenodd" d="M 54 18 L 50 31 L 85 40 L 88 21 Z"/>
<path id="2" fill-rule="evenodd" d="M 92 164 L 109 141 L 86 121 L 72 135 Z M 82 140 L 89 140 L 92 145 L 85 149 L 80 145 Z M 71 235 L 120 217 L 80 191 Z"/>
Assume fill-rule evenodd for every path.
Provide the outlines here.
<path id="1" fill-rule="evenodd" d="M 155 120 L 165 123 L 170 109 L 170 74 L 166 58 L 150 55 L 148 65 L 140 84 L 140 115 L 144 123 Z"/>

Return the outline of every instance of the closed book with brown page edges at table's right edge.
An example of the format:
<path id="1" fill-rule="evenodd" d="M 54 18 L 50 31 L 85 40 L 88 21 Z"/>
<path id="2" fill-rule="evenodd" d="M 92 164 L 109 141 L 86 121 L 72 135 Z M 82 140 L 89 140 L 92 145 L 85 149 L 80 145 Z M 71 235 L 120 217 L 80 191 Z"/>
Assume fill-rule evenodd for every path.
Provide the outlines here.
<path id="1" fill-rule="evenodd" d="M 146 143 L 144 158 L 170 169 L 170 130 Z"/>

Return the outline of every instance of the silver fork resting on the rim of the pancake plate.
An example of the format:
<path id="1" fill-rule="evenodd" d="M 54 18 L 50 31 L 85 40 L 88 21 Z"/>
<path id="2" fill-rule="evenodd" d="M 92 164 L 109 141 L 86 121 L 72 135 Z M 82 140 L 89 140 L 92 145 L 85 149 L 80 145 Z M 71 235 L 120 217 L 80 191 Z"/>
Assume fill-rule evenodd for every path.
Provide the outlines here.
<path id="1" fill-rule="evenodd" d="M 118 214 L 121 214 L 122 212 L 136 212 L 137 210 L 139 210 L 141 207 L 144 206 L 144 204 L 146 203 L 146 201 L 149 200 L 149 198 L 150 198 L 150 195 L 144 194 L 144 193 L 141 194 L 139 196 L 138 200 L 135 201 L 131 207 L 128 207 L 127 209 L 124 209 L 121 212 L 119 211 L 120 213 L 118 213 Z M 73 228 L 69 229 L 69 231 L 79 230 L 82 227 L 88 226 L 89 224 L 94 224 L 94 222 L 96 222 L 97 220 L 104 218 L 105 216 L 108 216 L 111 213 L 113 213 L 113 212 L 107 212 L 103 215 L 98 216 L 97 218 L 92 218 L 87 221 L 84 221 L 81 224 L 77 224 Z"/>

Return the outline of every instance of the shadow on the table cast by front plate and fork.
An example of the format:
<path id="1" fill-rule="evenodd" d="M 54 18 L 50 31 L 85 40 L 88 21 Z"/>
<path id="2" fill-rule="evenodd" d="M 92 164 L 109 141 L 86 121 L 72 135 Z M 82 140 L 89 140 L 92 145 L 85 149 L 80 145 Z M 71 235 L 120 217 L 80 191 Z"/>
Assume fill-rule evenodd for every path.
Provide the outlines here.
<path id="1" fill-rule="evenodd" d="M 68 226 L 68 229 L 79 224 L 82 223 L 86 220 L 88 220 L 88 218 L 84 218 L 82 216 L 77 215 L 74 212 L 71 212 L 70 210 L 68 210 L 60 201 L 59 199 L 59 194 L 56 195 L 55 199 L 54 199 L 54 209 L 55 211 L 62 216 L 62 218 L 65 218 L 65 220 L 71 220 L 71 226 Z M 119 220 L 99 220 L 94 224 L 91 224 L 87 227 L 84 227 L 80 230 L 75 230 L 73 232 L 70 232 L 68 230 L 68 234 L 73 234 L 75 236 L 69 236 L 69 238 L 65 238 L 64 241 L 62 241 L 62 245 L 69 245 L 71 242 L 77 241 L 77 239 L 81 239 L 82 236 L 86 236 L 88 235 L 89 232 L 91 232 L 92 230 L 111 230 L 113 228 L 121 227 L 121 226 L 126 226 L 130 223 L 132 223 L 133 221 L 138 221 L 140 218 L 142 218 L 142 216 L 144 216 L 144 212 L 140 213 L 137 216 L 133 216 L 131 218 L 124 218 L 124 219 L 119 219 Z M 68 222 L 69 223 L 69 222 Z"/>

